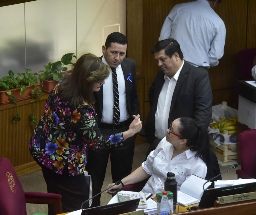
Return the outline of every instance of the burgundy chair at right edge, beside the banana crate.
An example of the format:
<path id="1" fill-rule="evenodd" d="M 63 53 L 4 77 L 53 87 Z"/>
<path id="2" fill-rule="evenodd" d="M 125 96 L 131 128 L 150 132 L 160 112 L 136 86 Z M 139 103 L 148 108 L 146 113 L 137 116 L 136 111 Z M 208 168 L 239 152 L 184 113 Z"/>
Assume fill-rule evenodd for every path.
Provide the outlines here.
<path id="1" fill-rule="evenodd" d="M 256 178 L 256 129 L 243 131 L 238 146 L 241 169 L 236 170 L 237 178 Z"/>

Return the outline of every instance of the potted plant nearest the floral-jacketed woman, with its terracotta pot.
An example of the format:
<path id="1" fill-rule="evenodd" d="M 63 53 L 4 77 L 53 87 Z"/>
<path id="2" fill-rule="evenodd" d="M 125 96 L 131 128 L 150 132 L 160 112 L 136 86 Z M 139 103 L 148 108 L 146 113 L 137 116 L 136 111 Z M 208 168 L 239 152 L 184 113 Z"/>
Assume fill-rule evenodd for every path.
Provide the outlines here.
<path id="1" fill-rule="evenodd" d="M 64 54 L 60 61 L 49 63 L 45 65 L 45 70 L 40 71 L 39 78 L 41 80 L 42 90 L 44 92 L 51 92 L 54 86 L 65 76 L 68 72 L 66 65 L 73 66 L 72 59 L 76 58 L 75 53 Z"/>

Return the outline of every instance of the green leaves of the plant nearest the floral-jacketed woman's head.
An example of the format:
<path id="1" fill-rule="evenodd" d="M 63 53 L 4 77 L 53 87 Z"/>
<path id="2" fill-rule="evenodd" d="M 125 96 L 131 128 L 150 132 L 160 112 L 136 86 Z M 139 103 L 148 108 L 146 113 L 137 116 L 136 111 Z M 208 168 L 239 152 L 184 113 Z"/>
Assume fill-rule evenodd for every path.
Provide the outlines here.
<path id="1" fill-rule="evenodd" d="M 48 80 L 48 81 L 60 81 L 65 73 L 64 71 L 67 71 L 67 65 L 73 66 L 72 59 L 75 58 L 76 56 L 74 55 L 75 53 L 67 53 L 64 54 L 61 58 L 60 61 L 54 62 L 54 63 L 48 63 L 48 65 L 45 65 L 44 68 L 45 70 L 41 70 L 39 73 L 39 78 L 41 81 Z"/>

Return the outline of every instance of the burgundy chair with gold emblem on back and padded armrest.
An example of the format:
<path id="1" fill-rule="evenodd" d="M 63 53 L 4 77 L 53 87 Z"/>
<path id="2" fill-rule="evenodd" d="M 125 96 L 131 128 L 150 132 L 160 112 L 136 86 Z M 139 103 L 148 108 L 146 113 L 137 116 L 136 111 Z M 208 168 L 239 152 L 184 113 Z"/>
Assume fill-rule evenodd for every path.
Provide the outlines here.
<path id="1" fill-rule="evenodd" d="M 55 214 L 62 213 L 62 196 L 55 193 L 24 192 L 7 158 L 0 159 L 0 189 L 0 215 L 26 215 L 26 203 L 53 204 Z"/>

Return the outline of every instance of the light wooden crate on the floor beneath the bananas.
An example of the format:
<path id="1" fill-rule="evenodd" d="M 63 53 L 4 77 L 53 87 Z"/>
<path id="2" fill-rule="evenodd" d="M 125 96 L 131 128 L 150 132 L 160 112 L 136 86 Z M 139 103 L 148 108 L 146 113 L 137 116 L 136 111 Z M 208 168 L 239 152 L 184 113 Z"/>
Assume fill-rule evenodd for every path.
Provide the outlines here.
<path id="1" fill-rule="evenodd" d="M 222 160 L 224 163 L 232 160 L 237 160 L 237 151 L 231 151 L 228 149 L 229 145 L 217 144 L 210 138 L 210 147 L 213 149 L 217 158 Z"/>

